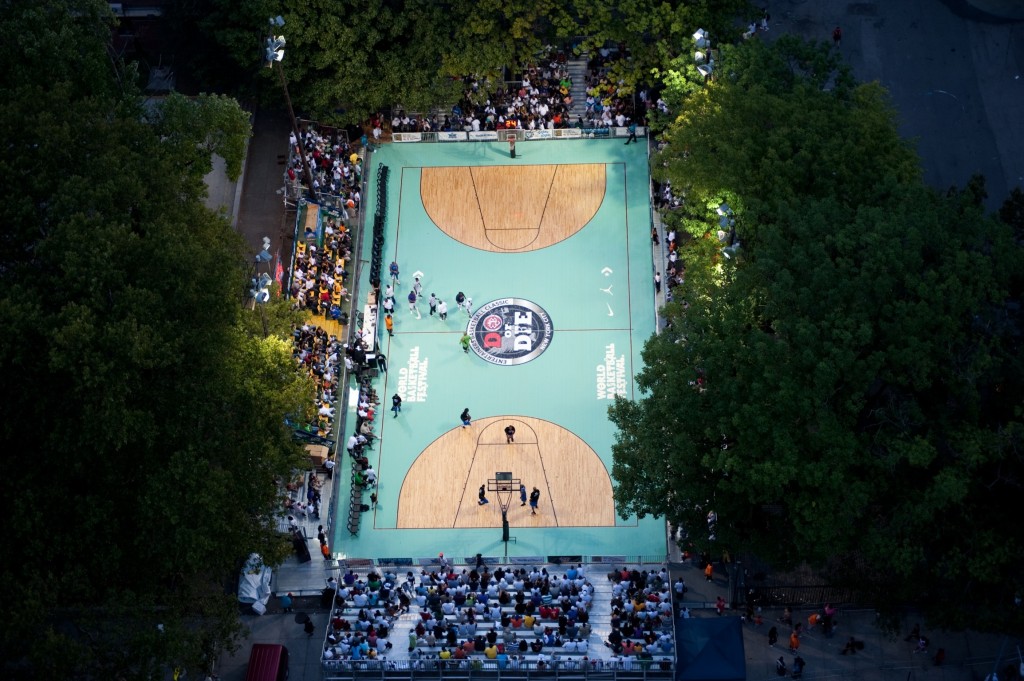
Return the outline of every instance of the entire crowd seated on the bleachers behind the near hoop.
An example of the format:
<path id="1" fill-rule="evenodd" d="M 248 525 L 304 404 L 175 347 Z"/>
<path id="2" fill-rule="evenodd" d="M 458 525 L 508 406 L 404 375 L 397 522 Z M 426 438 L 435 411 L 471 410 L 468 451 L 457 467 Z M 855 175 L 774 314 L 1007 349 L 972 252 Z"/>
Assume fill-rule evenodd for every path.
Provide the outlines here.
<path id="1" fill-rule="evenodd" d="M 413 605 L 420 612 L 409 634 L 408 650 L 418 668 L 488 664 L 517 669 L 532 663 L 537 669 L 632 669 L 652 655 L 671 654 L 672 602 L 666 571 L 615 574 L 612 606 L 620 614 L 613 615 L 613 633 L 625 631 L 630 619 L 644 623 L 644 632 L 637 637 L 636 630 L 630 631 L 629 638 L 640 640 L 611 646 L 611 658 L 602 659 L 589 654 L 594 588 L 582 565 L 559 576 L 537 567 L 499 566 L 492 572 L 486 565 L 456 571 L 444 564 L 436 570 L 409 571 L 401 583 L 389 570 L 371 571 L 360 579 L 347 569 L 340 582 L 332 578 L 325 591 L 333 593 L 333 615 L 324 661 L 339 668 L 375 667 L 367 664 L 374 661 L 386 664 L 383 656 L 393 647 L 386 639 Z M 636 614 L 648 610 L 650 618 Z M 630 615 L 624 618 L 622 612 Z M 669 624 L 666 631 L 663 616 Z"/>

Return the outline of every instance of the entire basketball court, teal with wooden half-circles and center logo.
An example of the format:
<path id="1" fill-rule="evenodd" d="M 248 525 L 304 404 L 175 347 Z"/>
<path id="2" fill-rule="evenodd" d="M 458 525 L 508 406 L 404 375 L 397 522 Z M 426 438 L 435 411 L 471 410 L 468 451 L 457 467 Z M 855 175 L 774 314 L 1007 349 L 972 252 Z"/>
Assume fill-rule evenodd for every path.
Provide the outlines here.
<path id="1" fill-rule="evenodd" d="M 394 336 L 383 320 L 377 335 L 388 365 L 375 383 L 379 439 L 367 451 L 378 505 L 356 536 L 346 527 L 351 470 L 340 454 L 332 547 L 345 559 L 504 555 L 499 494 L 485 490 L 488 503 L 479 503 L 498 472 L 540 493 L 536 515 L 518 484 L 511 493 L 510 557 L 666 554 L 664 520 L 613 512 L 607 418 L 616 394 L 636 396 L 640 351 L 655 328 L 646 146 L 562 139 L 516 151 L 513 160 L 504 142 L 392 143 L 372 156 L 371 177 L 389 168 L 387 186 L 372 182 L 365 198 L 374 206 L 387 191 L 382 289 L 388 263 L 400 275 Z M 414 276 L 423 290 L 411 311 Z M 459 292 L 472 299 L 471 314 Z M 431 294 L 447 304 L 446 320 L 429 314 Z M 466 409 L 473 423 L 463 428 Z"/>

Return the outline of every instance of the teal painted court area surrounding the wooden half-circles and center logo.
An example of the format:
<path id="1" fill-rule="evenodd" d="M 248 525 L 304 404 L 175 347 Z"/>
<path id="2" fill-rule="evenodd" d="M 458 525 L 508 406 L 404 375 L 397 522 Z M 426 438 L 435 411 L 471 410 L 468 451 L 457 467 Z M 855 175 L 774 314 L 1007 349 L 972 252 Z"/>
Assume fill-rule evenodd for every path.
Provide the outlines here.
<path id="1" fill-rule="evenodd" d="M 545 140 L 520 142 L 516 151 L 518 158 L 512 161 L 507 145 L 499 142 L 415 143 L 389 144 L 373 156 L 373 177 L 379 164 L 390 168 L 383 269 L 386 272 L 388 263 L 396 260 L 401 284 L 395 301 L 395 336 L 389 339 L 383 329 L 380 335 L 389 367 L 377 385 L 381 439 L 370 455 L 380 476 L 379 507 L 364 514 L 358 537 L 351 537 L 344 517 L 348 475 L 342 475 L 342 517 L 335 523 L 332 546 L 347 557 L 502 555 L 500 527 L 395 528 L 398 495 L 409 467 L 432 441 L 460 426 L 459 414 L 466 407 L 474 419 L 520 415 L 556 423 L 584 439 L 610 471 L 614 430 L 607 418 L 610 399 L 599 395 L 598 367 L 609 354 L 618 358 L 625 365 L 626 394 L 633 396 L 640 351 L 655 324 L 646 147 L 626 146 L 614 139 Z M 585 228 L 539 251 L 493 253 L 464 246 L 430 221 L 420 199 L 424 167 L 559 163 L 605 164 L 605 197 Z M 368 206 L 377 200 L 378 187 L 371 184 Z M 372 229 L 372 221 L 366 228 Z M 365 260 L 369 261 L 372 240 L 366 239 Z M 406 302 L 415 271 L 423 272 L 422 318 L 410 313 Z M 364 276 L 368 274 L 365 267 Z M 360 282 L 359 290 L 368 291 L 369 283 Z M 512 367 L 464 353 L 459 338 L 469 317 L 456 307 L 459 291 L 473 299 L 474 309 L 506 297 L 537 303 L 551 316 L 550 347 L 532 361 Z M 429 316 L 430 293 L 449 303 L 446 322 Z M 408 380 L 414 369 L 416 390 Z M 403 378 L 406 384 L 399 386 Z M 404 392 L 402 413 L 392 419 L 390 395 L 399 389 Z M 346 473 L 347 462 L 339 468 Z M 475 487 L 476 481 L 470 483 Z M 494 506 L 500 522 L 500 510 Z M 664 521 L 650 517 L 616 518 L 614 527 L 513 525 L 511 535 L 517 541 L 509 545 L 509 555 L 518 556 L 666 551 Z"/>

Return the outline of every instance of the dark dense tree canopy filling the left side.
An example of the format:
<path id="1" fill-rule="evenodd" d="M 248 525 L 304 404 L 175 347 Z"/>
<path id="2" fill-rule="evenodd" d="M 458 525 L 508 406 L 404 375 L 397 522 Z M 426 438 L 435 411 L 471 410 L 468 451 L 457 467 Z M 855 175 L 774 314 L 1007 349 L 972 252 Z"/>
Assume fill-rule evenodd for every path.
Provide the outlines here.
<path id="1" fill-rule="evenodd" d="M 105 3 L 9 3 L 0 27 L 0 666 L 163 678 L 230 644 L 241 561 L 288 550 L 283 415 L 309 386 L 253 333 L 249 258 L 203 206 L 248 119 L 222 97 L 143 108 Z"/>

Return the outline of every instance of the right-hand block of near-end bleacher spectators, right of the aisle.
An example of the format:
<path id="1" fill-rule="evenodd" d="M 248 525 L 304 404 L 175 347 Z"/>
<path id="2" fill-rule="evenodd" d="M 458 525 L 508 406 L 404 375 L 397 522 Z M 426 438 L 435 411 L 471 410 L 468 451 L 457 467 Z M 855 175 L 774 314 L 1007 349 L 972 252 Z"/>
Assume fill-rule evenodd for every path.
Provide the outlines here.
<path id="1" fill-rule="evenodd" d="M 604 642 L 616 655 L 671 654 L 672 592 L 666 568 L 610 572 L 611 632 Z"/>

